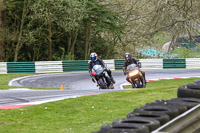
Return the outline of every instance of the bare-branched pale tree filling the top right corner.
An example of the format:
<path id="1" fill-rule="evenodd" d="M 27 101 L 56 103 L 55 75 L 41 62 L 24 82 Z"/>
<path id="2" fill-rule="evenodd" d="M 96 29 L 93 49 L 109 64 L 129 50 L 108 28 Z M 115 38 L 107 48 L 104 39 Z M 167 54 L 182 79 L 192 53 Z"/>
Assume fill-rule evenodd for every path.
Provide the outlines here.
<path id="1" fill-rule="evenodd" d="M 155 11 L 151 14 L 151 33 L 166 30 L 172 34 L 171 47 L 174 49 L 176 39 L 180 36 L 197 34 L 200 18 L 198 0 L 171 0 L 153 3 Z"/>

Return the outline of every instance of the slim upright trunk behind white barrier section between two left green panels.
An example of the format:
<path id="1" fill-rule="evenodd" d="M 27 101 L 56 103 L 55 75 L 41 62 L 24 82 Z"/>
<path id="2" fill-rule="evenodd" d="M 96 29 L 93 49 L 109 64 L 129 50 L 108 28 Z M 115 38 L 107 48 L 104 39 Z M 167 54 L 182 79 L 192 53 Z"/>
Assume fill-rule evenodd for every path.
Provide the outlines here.
<path id="1" fill-rule="evenodd" d="M 51 31 L 51 22 L 48 23 L 48 31 L 49 31 L 49 36 L 48 36 L 48 61 L 51 61 L 52 59 L 52 31 Z"/>

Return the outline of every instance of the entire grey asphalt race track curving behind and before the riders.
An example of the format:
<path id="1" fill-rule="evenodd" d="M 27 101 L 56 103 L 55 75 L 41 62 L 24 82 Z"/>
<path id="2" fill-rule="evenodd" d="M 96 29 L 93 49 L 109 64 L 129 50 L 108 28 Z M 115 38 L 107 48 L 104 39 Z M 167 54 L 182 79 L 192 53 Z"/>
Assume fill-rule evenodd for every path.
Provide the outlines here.
<path id="1" fill-rule="evenodd" d="M 200 76 L 200 69 L 179 69 L 179 70 L 146 70 L 147 80 L 178 77 Z M 56 90 L 1 90 L 0 106 L 15 104 L 34 104 L 48 101 L 75 98 L 79 96 L 100 94 L 110 91 L 124 91 L 120 85 L 126 83 L 122 71 L 113 71 L 116 80 L 115 89 L 99 90 L 92 82 L 88 72 L 40 74 L 12 80 L 10 86 L 57 88 Z M 60 90 L 61 84 L 70 90 Z M 17 87 L 16 87 L 17 88 Z"/>

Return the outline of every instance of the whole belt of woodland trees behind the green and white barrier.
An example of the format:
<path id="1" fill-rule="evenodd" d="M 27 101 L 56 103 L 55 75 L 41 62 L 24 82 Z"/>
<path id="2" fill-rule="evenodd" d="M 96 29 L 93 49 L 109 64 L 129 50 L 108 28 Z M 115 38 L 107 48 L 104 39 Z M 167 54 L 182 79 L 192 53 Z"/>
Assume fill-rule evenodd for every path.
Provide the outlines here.
<path id="1" fill-rule="evenodd" d="M 152 47 L 154 36 L 162 31 L 172 35 L 172 48 L 180 36 L 199 34 L 198 0 L 4 0 L 3 4 L 0 58 L 5 61 L 87 60 L 91 51 L 103 58 L 121 58 L 124 52 Z"/>

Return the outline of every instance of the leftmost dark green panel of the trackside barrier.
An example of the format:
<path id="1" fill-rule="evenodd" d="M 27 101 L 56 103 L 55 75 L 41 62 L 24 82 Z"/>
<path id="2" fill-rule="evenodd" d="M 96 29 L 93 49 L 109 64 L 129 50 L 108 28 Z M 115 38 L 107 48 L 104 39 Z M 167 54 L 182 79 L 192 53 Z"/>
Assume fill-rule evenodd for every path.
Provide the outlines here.
<path id="1" fill-rule="evenodd" d="M 34 62 L 8 62 L 8 73 L 35 73 Z"/>

